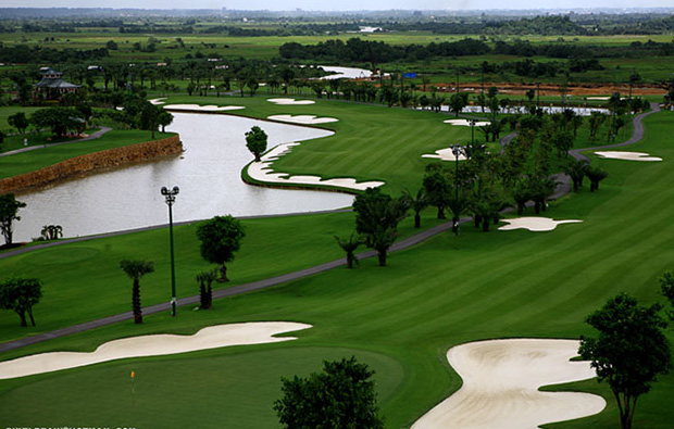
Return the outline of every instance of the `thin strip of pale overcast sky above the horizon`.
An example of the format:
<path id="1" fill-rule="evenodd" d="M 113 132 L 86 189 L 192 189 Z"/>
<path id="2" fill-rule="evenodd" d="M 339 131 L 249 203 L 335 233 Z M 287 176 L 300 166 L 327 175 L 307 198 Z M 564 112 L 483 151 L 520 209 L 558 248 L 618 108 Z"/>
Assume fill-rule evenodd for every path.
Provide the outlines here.
<path id="1" fill-rule="evenodd" d="M 2 0 L 1 8 L 239 9 L 289 11 L 671 8 L 672 0 Z"/>

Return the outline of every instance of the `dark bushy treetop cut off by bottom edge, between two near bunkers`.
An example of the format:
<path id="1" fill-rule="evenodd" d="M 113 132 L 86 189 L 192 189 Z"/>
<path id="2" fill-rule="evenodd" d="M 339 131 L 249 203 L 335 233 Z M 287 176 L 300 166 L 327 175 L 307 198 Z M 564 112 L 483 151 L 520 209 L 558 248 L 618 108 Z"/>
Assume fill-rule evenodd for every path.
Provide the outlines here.
<path id="1" fill-rule="evenodd" d="M 323 373 L 282 378 L 283 398 L 274 402 L 286 429 L 383 429 L 374 371 L 355 357 L 323 363 Z"/>

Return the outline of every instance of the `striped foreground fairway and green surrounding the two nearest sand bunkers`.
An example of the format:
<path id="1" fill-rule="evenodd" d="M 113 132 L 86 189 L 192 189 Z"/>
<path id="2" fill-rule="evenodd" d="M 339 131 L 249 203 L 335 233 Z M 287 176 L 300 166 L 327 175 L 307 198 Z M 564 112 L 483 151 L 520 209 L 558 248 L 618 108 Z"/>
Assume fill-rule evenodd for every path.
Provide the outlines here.
<path id="1" fill-rule="evenodd" d="M 127 321 L 5 353 L 3 358 L 47 350 L 92 350 L 114 338 L 192 333 L 203 326 L 230 321 L 295 320 L 314 326 L 298 332 L 300 339 L 290 343 L 112 362 L 2 381 L 1 413 L 12 416 L 12 425 L 53 425 L 65 419 L 112 425 L 123 419 L 143 427 L 170 427 L 165 415 L 171 413 L 177 427 L 189 421 L 204 428 L 222 427 L 223 422 L 273 428 L 277 425 L 270 408 L 278 398 L 280 376 L 316 370 L 323 357 L 357 354 L 377 369 L 387 427 L 407 427 L 459 388 L 460 379 L 445 358 L 448 348 L 491 338 L 578 338 L 591 332 L 584 317 L 620 291 L 635 294 L 645 304 L 660 300 L 657 279 L 674 262 L 674 230 L 663 204 L 674 198 L 674 149 L 669 144 L 673 119 L 671 112 L 650 116 L 646 141 L 631 148 L 662 156 L 663 162 L 594 160 L 610 173 L 600 190 L 591 194 L 584 188 L 552 204 L 547 213 L 558 219 L 579 218 L 583 224 L 538 234 L 483 234 L 464 226 L 459 238 L 442 235 L 392 254 L 386 268 L 367 260 L 355 270 L 334 269 L 220 300 L 212 311 L 182 311 L 175 319 L 161 314 L 148 317 L 140 327 Z M 338 215 L 328 215 L 323 222 L 330 216 Z M 311 217 L 290 217 L 288 225 L 294 219 L 294 231 L 310 228 L 307 220 Z M 269 238 L 269 245 L 274 239 Z M 148 241 L 142 239 L 142 243 Z M 292 254 L 283 245 L 275 252 L 286 260 Z M 54 266 L 85 265 L 76 261 L 82 253 L 71 253 L 61 254 Z M 262 252 L 254 255 L 258 268 L 264 269 L 263 262 L 270 256 Z M 36 261 L 45 258 L 42 254 Z M 17 266 L 23 265 L 20 262 Z M 188 263 L 185 254 L 178 257 L 178 264 Z M 117 275 L 120 289 L 128 294 L 128 280 L 113 268 L 101 266 L 101 278 Z M 150 278 L 141 286 L 143 293 Z M 50 294 L 36 307 L 38 323 L 54 311 L 46 308 Z M 102 301 L 98 291 L 97 301 Z M 67 301 L 60 305 L 79 311 Z M 2 325 L 12 321 L 15 326 L 15 318 Z M 145 393 L 136 407 L 123 409 L 129 403 L 130 370 L 139 375 L 148 371 L 142 376 L 147 378 L 139 378 L 142 388 L 138 389 L 152 393 Z M 265 380 L 263 386 L 259 386 L 259 377 Z M 606 387 L 594 381 L 569 389 L 599 392 L 610 404 L 612 401 Z M 173 401 L 168 392 L 175 394 Z M 639 401 L 635 426 L 671 427 L 674 411 L 667 405 L 672 394 L 674 376 L 661 377 L 653 391 Z M 238 426 L 237 421 L 244 420 Z M 610 405 L 598 416 L 553 427 L 608 429 L 616 425 L 615 408 Z"/>

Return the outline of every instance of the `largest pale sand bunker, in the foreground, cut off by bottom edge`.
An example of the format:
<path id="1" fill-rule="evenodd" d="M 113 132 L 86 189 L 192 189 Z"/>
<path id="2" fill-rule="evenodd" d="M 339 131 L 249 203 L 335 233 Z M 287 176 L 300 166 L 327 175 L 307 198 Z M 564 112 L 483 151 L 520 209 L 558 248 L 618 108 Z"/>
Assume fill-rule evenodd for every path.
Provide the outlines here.
<path id="1" fill-rule="evenodd" d="M 596 377 L 589 362 L 569 361 L 578 345 L 572 340 L 514 339 L 450 349 L 447 359 L 463 386 L 412 429 L 534 429 L 601 412 L 607 403 L 595 394 L 538 391 Z"/>

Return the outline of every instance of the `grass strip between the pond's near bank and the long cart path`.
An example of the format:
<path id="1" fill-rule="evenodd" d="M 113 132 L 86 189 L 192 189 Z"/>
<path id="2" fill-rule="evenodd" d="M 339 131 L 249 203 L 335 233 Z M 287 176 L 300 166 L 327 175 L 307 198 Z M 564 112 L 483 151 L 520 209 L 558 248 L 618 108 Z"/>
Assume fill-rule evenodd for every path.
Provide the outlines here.
<path id="1" fill-rule="evenodd" d="M 437 224 L 430 216 L 428 212 L 424 226 Z M 232 281 L 215 283 L 215 288 L 244 285 L 344 257 L 334 236 L 348 237 L 354 227 L 352 213 L 245 219 L 242 223 L 247 236 L 235 261 L 227 264 Z M 416 231 L 412 224 L 411 218 L 401 223 L 399 231 L 402 237 Z M 196 228 L 197 223 L 174 228 L 178 298 L 198 294 L 195 277 L 210 267 L 199 255 Z M 167 234 L 162 228 L 63 244 L 0 260 L 2 277 L 38 277 L 45 282 L 46 296 L 36 312 L 36 327 L 16 329 L 18 317 L 13 312 L 0 312 L 0 341 L 130 310 L 130 280 L 118 265 L 124 258 L 154 262 L 155 273 L 141 280 L 142 304 L 166 302 L 171 285 Z M 189 308 L 180 312 L 186 311 Z"/>

